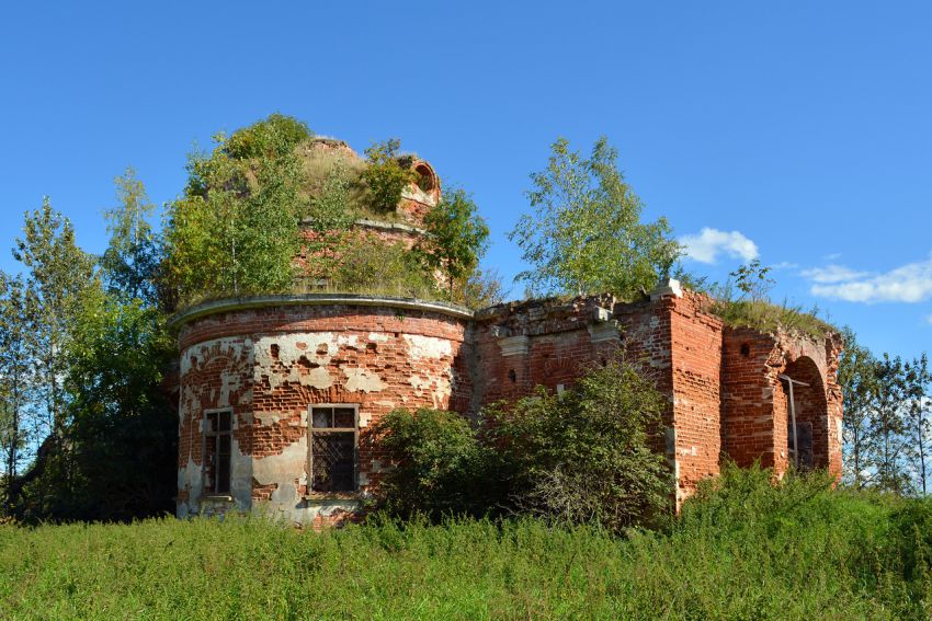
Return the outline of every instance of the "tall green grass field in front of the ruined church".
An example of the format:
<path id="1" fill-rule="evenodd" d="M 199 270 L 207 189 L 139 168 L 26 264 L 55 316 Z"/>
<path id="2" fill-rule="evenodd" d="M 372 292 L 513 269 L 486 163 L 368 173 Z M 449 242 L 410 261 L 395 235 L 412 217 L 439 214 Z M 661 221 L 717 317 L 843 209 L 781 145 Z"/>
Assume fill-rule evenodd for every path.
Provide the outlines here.
<path id="1" fill-rule="evenodd" d="M 930 618 L 932 505 L 732 472 L 661 532 L 530 519 L 0 527 L 11 619 Z"/>

